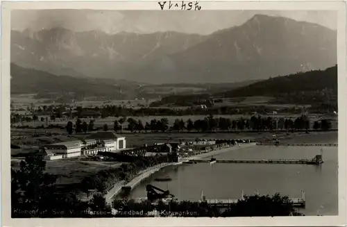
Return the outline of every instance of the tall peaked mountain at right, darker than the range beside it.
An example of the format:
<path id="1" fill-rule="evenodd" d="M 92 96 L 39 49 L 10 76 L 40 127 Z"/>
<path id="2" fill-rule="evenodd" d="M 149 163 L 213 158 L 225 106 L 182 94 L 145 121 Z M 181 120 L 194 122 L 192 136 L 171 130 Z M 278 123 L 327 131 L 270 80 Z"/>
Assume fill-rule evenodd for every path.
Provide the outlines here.
<path id="1" fill-rule="evenodd" d="M 286 26 L 283 26 L 284 24 Z M 273 28 L 281 32 L 272 33 Z M 290 36 L 292 38 L 288 39 Z M 300 42 L 291 41 L 298 37 L 301 38 Z M 286 48 L 284 53 L 278 51 L 283 48 Z M 321 51 L 322 49 L 327 51 Z M 230 76 L 238 77 L 235 81 L 240 81 L 244 77 L 258 79 L 259 77 L 252 76 L 261 71 L 262 77 L 259 79 L 265 79 L 269 76 L 325 69 L 335 65 L 336 33 L 330 28 L 309 22 L 262 15 L 253 17 L 241 26 L 214 33 L 204 42 L 165 58 L 159 64 L 157 60 L 148 67 L 155 69 L 152 70 L 155 74 L 151 74 L 151 80 L 160 77 L 160 74 L 167 75 L 167 78 L 172 78 L 172 74 L 180 74 L 180 78 L 175 79 L 189 82 L 188 78 L 192 77 L 194 72 L 196 76 L 191 81 L 229 81 Z M 276 67 L 278 69 L 273 70 Z M 146 69 L 139 71 L 146 72 Z"/>

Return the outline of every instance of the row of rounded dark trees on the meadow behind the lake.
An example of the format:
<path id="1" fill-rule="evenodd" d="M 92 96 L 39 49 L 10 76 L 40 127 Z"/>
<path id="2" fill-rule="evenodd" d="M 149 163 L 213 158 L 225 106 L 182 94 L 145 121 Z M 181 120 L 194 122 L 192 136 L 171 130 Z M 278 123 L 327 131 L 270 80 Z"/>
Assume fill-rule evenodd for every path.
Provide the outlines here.
<path id="1" fill-rule="evenodd" d="M 128 123 L 124 127 L 124 123 Z M 72 134 L 87 133 L 88 131 L 94 131 L 94 120 L 90 119 L 89 124 L 81 119 L 76 120 L 76 124 L 72 121 L 67 122 L 67 132 Z M 166 131 L 197 131 L 197 132 L 213 132 L 213 131 L 309 131 L 309 130 L 321 130 L 328 131 L 332 128 L 332 122 L 330 119 L 321 119 L 312 122 L 307 115 L 301 115 L 300 117 L 279 119 L 273 117 L 262 117 L 260 115 L 253 115 L 251 118 L 246 119 L 241 117 L 240 119 L 230 119 L 224 117 L 214 117 L 209 115 L 203 119 L 175 119 L 174 124 L 169 125 L 169 119 L 151 119 L 149 122 L 143 122 L 141 119 L 134 119 L 129 117 L 120 117 L 113 122 L 113 131 L 121 132 L 128 130 L 130 132 L 166 132 Z M 108 124 L 104 124 L 103 131 L 109 131 Z"/>

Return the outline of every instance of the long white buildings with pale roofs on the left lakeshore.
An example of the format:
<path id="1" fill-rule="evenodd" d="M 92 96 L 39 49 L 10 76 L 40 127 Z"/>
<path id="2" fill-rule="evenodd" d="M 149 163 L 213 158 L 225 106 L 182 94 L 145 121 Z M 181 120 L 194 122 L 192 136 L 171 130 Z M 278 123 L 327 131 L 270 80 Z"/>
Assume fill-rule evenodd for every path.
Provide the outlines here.
<path id="1" fill-rule="evenodd" d="M 94 155 L 99 152 L 118 152 L 126 148 L 126 137 L 113 132 L 93 133 L 85 140 L 46 144 L 41 147 L 49 160 Z"/>

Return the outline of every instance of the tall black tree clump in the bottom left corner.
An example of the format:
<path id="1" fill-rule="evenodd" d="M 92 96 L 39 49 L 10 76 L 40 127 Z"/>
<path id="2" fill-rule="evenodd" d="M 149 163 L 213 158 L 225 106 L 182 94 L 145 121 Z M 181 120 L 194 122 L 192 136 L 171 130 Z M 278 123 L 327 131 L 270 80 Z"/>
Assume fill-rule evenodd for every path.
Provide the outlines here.
<path id="1" fill-rule="evenodd" d="M 46 162 L 38 153 L 31 153 L 20 163 L 20 169 L 11 168 L 11 209 L 15 217 L 86 217 L 81 210 L 87 204 L 73 192 L 57 194 L 57 176 L 46 173 Z M 18 212 L 35 210 L 35 212 Z M 59 210 L 60 212 L 56 212 Z"/>

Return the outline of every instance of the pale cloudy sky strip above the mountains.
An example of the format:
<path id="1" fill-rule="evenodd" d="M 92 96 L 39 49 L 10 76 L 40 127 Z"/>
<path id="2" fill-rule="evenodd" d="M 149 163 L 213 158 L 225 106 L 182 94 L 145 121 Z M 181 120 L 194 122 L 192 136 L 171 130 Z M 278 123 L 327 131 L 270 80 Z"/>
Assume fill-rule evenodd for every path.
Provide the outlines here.
<path id="1" fill-rule="evenodd" d="M 239 26 L 255 14 L 282 16 L 337 28 L 335 11 L 314 10 L 12 10 L 13 30 L 62 27 L 72 31 L 155 33 L 178 31 L 208 35 Z"/>

